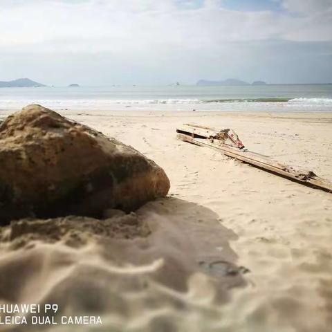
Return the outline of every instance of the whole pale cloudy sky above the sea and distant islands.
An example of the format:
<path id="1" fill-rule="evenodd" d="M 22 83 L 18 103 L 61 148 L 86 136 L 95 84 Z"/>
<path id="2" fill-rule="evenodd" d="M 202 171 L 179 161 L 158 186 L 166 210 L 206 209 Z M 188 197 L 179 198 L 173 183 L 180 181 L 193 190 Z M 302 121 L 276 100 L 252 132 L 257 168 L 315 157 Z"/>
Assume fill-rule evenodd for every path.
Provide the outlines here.
<path id="1" fill-rule="evenodd" d="M 0 0 L 0 80 L 332 82 L 332 0 Z"/>

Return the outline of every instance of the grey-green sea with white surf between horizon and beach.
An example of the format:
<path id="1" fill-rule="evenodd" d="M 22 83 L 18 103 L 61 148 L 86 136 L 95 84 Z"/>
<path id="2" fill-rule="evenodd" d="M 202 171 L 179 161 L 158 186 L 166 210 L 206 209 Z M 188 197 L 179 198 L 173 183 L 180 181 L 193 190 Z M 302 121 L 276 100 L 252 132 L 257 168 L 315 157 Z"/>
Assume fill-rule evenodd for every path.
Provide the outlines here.
<path id="1" fill-rule="evenodd" d="M 27 104 L 68 110 L 332 111 L 332 84 L 1 88 L 0 111 Z"/>

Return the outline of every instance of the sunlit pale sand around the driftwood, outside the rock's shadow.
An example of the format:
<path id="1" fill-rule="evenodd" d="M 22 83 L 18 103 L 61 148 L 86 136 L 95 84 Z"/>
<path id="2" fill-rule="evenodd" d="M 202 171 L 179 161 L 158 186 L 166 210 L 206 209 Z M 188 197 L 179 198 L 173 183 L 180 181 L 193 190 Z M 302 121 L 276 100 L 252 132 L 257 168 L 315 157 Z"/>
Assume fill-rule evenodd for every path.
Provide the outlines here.
<path id="1" fill-rule="evenodd" d="M 222 245 L 219 248 L 213 241 L 211 252 L 230 250 L 228 256 L 251 271 L 243 275 L 247 285 L 233 288 L 230 299 L 217 307 L 208 282 L 197 276 L 192 278 L 192 287 L 185 294 L 156 286 L 157 293 L 169 294 L 174 299 L 185 297 L 190 303 L 185 313 L 178 311 L 175 302 L 161 301 L 160 297 L 155 300 L 165 306 L 142 310 L 139 308 L 142 302 L 132 295 L 130 311 L 129 305 L 126 306 L 129 317 L 123 307 L 120 312 L 111 311 L 109 321 L 118 326 L 114 331 L 174 331 L 167 329 L 165 322 L 190 332 L 331 331 L 332 194 L 239 163 L 218 151 L 180 142 L 175 138 L 175 129 L 184 122 L 221 129 L 230 127 L 248 149 L 311 169 L 332 180 L 332 113 L 66 111 L 62 114 L 155 160 L 170 178 L 170 196 L 197 203 L 216 214 L 214 219 L 219 221 L 222 232 L 228 232 L 232 249 Z M 213 216 L 202 213 L 204 210 L 192 210 L 197 205 L 191 203 L 178 210 L 176 205 L 151 203 L 142 213 L 160 214 L 165 223 L 172 216 L 185 221 L 195 214 L 201 223 L 212 222 Z M 205 236 L 201 234 L 204 232 L 199 236 Z M 197 250 L 200 248 L 205 248 L 206 253 L 206 243 Z M 145 295 L 148 297 L 149 292 Z M 134 310 L 135 303 L 138 307 Z M 167 320 L 161 324 L 165 317 Z M 158 319 L 159 325 L 151 323 Z"/>

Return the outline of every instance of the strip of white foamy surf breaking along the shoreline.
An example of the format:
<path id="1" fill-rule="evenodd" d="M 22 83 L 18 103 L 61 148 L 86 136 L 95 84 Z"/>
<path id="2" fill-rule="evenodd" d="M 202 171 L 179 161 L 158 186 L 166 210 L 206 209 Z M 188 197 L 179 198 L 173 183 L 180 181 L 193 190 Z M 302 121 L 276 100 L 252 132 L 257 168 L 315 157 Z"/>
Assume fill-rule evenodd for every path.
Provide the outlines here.
<path id="1" fill-rule="evenodd" d="M 229 98 L 229 99 L 7 99 L 0 111 L 18 110 L 27 104 L 42 104 L 61 110 L 168 110 L 168 111 L 332 111 L 332 98 Z"/>

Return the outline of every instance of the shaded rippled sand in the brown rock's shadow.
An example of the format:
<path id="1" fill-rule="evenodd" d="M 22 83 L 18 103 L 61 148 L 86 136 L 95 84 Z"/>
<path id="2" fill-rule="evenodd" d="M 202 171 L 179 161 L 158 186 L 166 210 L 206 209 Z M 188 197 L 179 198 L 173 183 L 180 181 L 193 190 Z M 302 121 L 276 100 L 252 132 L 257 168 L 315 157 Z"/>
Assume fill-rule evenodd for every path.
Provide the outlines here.
<path id="1" fill-rule="evenodd" d="M 10 233 L 17 222 L 2 228 L 0 303 L 36 303 L 42 308 L 58 304 L 56 331 L 72 331 L 60 328 L 63 315 L 100 315 L 105 323 L 93 331 L 126 331 L 157 309 L 165 311 L 160 315 L 173 327 L 179 312 L 199 311 L 204 319 L 205 311 L 225 302 L 230 288 L 245 284 L 242 274 L 248 271 L 236 266 L 237 255 L 229 244 L 237 235 L 221 225 L 212 210 L 166 198 L 127 216 L 107 221 L 81 216 L 29 220 L 15 237 Z M 108 233 L 103 224 L 111 223 L 113 232 Z M 125 232 L 138 227 L 145 232 L 126 238 Z M 151 320 L 133 331 L 164 331 Z M 110 329 L 115 322 L 119 329 Z M 6 331 L 46 328 L 28 324 L 12 330 L 8 326 Z"/>

